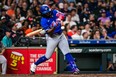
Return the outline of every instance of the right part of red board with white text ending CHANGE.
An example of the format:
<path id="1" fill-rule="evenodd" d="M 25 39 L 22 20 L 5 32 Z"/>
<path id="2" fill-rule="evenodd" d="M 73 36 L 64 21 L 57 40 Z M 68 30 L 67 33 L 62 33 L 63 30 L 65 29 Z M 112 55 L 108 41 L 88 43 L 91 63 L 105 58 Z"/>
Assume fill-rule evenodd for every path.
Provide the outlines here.
<path id="1" fill-rule="evenodd" d="M 45 54 L 45 49 L 29 49 L 30 65 L 37 61 L 38 58 Z M 44 63 L 41 63 L 36 68 L 37 74 L 55 74 L 56 73 L 56 52 L 52 54 L 52 57 Z"/>

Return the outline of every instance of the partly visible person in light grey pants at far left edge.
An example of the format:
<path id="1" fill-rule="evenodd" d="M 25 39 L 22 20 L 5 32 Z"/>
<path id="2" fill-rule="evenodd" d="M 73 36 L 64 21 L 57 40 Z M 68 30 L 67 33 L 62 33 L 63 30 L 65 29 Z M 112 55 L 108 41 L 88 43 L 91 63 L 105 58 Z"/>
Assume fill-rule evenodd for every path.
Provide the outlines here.
<path id="1" fill-rule="evenodd" d="M 2 64 L 2 74 L 6 74 L 7 60 L 3 56 L 5 48 L 3 47 L 2 42 L 0 42 L 0 64 Z"/>

